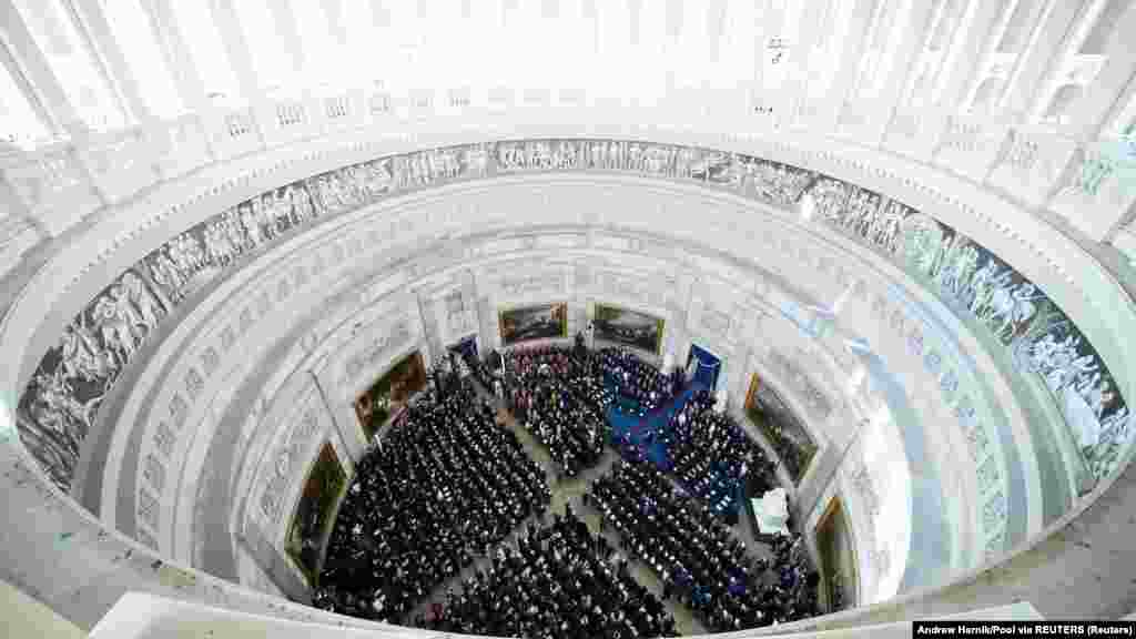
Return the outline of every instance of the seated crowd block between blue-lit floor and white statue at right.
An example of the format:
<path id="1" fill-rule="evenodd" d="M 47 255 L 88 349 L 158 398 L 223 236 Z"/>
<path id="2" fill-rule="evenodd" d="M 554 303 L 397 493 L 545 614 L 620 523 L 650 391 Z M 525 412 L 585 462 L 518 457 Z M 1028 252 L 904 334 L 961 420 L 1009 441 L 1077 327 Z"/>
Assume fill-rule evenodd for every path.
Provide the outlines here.
<path id="1" fill-rule="evenodd" d="M 775 466 L 733 417 L 713 406 L 709 391 L 695 393 L 671 416 L 666 443 L 683 486 L 733 524 L 746 476 L 754 478 L 760 495 L 776 486 Z"/>

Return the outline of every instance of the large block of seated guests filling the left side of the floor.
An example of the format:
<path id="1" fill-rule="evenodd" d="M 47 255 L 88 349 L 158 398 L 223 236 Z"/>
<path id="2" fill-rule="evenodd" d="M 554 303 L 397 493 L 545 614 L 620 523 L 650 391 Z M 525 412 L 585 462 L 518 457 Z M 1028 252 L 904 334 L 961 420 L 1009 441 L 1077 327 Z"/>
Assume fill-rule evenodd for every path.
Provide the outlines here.
<path id="1" fill-rule="evenodd" d="M 544 472 L 469 384 L 427 393 L 357 465 L 314 604 L 396 620 L 550 500 Z"/>

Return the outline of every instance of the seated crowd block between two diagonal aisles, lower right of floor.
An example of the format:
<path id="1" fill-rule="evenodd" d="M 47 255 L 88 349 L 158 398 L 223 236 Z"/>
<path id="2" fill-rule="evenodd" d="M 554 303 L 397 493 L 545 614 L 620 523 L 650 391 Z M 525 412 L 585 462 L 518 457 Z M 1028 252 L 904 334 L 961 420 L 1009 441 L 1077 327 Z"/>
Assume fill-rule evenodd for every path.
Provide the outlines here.
<path id="1" fill-rule="evenodd" d="M 766 566 L 746 555 L 705 505 L 676 491 L 653 465 L 620 460 L 585 499 L 624 547 L 659 575 L 665 597 L 677 595 L 708 629 L 742 630 L 788 619 L 765 598 Z"/>

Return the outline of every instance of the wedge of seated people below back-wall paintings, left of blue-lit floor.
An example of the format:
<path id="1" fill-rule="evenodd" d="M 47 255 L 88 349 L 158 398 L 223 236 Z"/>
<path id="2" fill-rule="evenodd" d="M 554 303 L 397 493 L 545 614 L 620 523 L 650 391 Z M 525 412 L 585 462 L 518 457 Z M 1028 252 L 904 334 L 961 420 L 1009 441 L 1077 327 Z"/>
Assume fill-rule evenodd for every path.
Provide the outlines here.
<path id="1" fill-rule="evenodd" d="M 510 398 L 518 420 L 549 450 L 565 475 L 594 466 L 603 456 L 608 422 L 596 409 L 586 367 L 567 349 L 516 352 L 509 359 Z"/>

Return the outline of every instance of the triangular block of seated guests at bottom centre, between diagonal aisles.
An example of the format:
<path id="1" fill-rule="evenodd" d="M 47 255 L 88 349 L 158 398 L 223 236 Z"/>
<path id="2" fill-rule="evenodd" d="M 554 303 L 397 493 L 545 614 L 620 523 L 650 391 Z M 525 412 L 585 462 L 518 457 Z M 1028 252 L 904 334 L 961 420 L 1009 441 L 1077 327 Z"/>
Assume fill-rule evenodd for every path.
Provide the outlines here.
<path id="1" fill-rule="evenodd" d="M 529 524 L 517 547 L 498 547 L 493 564 L 446 592 L 419 626 L 533 639 L 677 637 L 675 620 L 638 584 L 626 561 L 567 506 L 552 525 Z"/>

